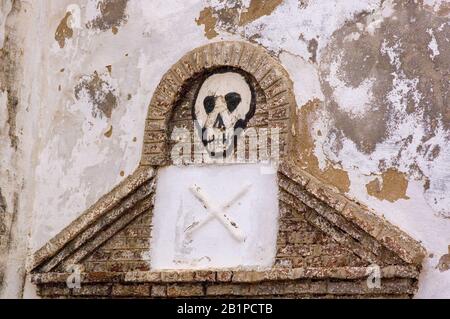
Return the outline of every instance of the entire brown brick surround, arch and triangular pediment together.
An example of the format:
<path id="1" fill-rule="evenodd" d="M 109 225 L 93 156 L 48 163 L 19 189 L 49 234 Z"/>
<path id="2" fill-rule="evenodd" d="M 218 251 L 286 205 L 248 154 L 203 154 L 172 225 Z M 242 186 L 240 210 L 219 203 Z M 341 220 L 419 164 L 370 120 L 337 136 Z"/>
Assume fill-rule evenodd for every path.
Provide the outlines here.
<path id="1" fill-rule="evenodd" d="M 239 68 L 256 88 L 250 127 L 280 127 L 279 232 L 270 271 L 151 272 L 152 208 L 158 167 L 170 164 L 174 126 L 192 130 L 191 103 L 205 72 Z M 36 252 L 30 271 L 43 297 L 411 297 L 423 248 L 366 207 L 299 169 L 289 158 L 295 98 L 286 71 L 263 49 L 218 42 L 184 56 L 149 106 L 137 171 Z M 294 122 L 294 121 L 292 121 Z M 71 265 L 82 288 L 68 289 Z M 379 289 L 367 266 L 382 267 Z"/>

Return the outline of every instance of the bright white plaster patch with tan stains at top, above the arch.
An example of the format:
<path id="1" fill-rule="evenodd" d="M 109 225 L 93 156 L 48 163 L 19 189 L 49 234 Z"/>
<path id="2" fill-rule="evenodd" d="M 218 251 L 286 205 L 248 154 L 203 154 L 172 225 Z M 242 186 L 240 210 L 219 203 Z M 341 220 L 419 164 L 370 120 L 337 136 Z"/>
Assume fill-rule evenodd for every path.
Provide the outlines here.
<path id="1" fill-rule="evenodd" d="M 319 62 L 320 51 L 339 26 L 361 11 L 377 9 L 381 2 L 311 0 L 299 4 L 298 1 L 280 0 L 208 0 L 205 9 L 211 9 L 212 15 L 217 18 L 209 26 L 221 36 L 239 35 L 276 54 L 289 51 L 305 60 L 314 56 L 309 51 L 317 52 Z M 283 21 L 281 25 L 280 21 Z M 314 41 L 317 41 L 317 45 Z"/>

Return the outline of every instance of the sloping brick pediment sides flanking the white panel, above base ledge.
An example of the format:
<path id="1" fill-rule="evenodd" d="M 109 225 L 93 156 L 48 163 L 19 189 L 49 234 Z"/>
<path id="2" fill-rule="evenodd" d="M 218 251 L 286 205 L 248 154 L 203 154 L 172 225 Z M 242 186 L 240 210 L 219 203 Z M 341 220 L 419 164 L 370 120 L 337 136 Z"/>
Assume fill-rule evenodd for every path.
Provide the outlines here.
<path id="1" fill-rule="evenodd" d="M 161 279 L 161 273 L 151 271 L 155 176 L 156 169 L 138 169 L 36 252 L 32 266 L 34 281 L 42 287 L 56 282 L 61 285 L 68 277 L 67 272 L 77 264 L 82 265 L 84 278 L 98 281 L 103 277 L 103 284 L 124 278 L 145 281 L 149 276 L 163 282 L 189 282 L 192 277 L 196 282 L 194 272 L 166 273 Z M 408 235 L 338 190 L 322 184 L 293 162 L 280 166 L 278 183 L 279 231 L 272 270 L 278 275 L 269 276 L 266 271 L 265 276 L 277 278 L 281 271 L 300 272 L 302 278 L 328 273 L 330 278 L 350 279 L 355 273 L 363 276 L 363 270 L 370 265 L 378 265 L 383 272 L 394 272 L 391 276 L 416 281 L 424 250 Z M 216 270 L 209 276 L 217 280 L 227 271 Z M 237 271 L 234 276 L 239 278 L 246 273 L 262 276 L 246 271 Z M 245 278 L 241 280 L 246 282 Z M 413 291 L 411 287 L 407 290 Z"/>

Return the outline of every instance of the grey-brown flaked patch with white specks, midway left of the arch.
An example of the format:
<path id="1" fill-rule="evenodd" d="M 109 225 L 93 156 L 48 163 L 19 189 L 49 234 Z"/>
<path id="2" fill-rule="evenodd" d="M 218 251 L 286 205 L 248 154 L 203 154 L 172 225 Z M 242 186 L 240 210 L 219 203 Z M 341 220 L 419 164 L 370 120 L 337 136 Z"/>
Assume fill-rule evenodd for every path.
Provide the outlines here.
<path id="1" fill-rule="evenodd" d="M 86 98 L 92 106 L 92 116 L 111 118 L 112 111 L 117 107 L 118 100 L 115 89 L 104 76 L 97 71 L 92 75 L 83 76 L 75 87 L 75 97 Z"/>

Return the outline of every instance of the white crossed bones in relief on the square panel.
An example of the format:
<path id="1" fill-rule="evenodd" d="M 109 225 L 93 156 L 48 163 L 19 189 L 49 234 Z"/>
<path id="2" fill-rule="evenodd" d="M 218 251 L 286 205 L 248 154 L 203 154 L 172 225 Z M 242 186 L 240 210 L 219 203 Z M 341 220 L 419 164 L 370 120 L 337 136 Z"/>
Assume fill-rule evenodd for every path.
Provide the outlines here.
<path id="1" fill-rule="evenodd" d="M 210 200 L 208 200 L 208 197 L 203 192 L 202 188 L 194 184 L 192 187 L 190 187 L 190 191 L 195 196 L 195 198 L 197 198 L 200 201 L 200 203 L 208 212 L 208 215 L 203 220 L 194 222 L 192 225 L 186 228 L 185 231 L 186 234 L 191 235 L 196 230 L 200 229 L 205 224 L 207 224 L 209 221 L 216 218 L 228 230 L 228 232 L 231 234 L 231 236 L 233 236 L 234 239 L 236 239 L 239 242 L 244 242 L 246 239 L 244 232 L 239 228 L 239 225 L 236 224 L 236 222 L 234 222 L 233 220 L 231 220 L 230 217 L 228 217 L 226 211 L 231 206 L 233 206 L 239 199 L 241 199 L 245 194 L 247 194 L 250 187 L 251 184 L 246 184 L 244 188 L 240 192 L 238 192 L 231 200 L 229 200 L 224 205 L 217 207 L 216 205 L 211 203 Z"/>

